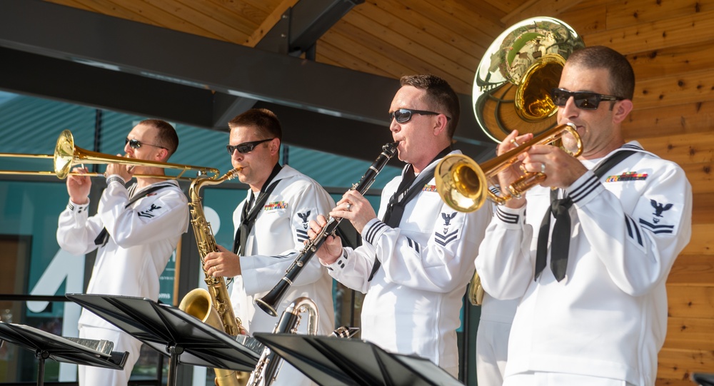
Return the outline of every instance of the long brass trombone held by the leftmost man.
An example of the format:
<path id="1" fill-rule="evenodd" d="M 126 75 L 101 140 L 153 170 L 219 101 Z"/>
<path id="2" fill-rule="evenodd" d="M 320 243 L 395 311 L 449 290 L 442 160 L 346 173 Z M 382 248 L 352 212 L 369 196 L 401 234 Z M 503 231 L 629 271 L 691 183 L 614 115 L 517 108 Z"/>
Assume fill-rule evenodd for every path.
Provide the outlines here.
<path id="1" fill-rule="evenodd" d="M 180 163 L 164 163 L 157 161 L 144 161 L 137 160 L 133 158 L 124 158 L 120 156 L 110 156 L 109 154 L 97 153 L 96 151 L 89 151 L 83 148 L 78 148 L 74 146 L 74 137 L 69 130 L 62 131 L 57 138 L 57 144 L 54 148 L 54 155 L 51 154 L 23 154 L 23 153 L 0 153 L 0 157 L 15 157 L 15 158 L 53 158 L 54 159 L 54 171 L 0 171 L 0 174 L 19 174 L 19 175 L 32 175 L 32 176 L 57 176 L 57 178 L 64 180 L 67 176 L 81 175 L 81 176 L 104 176 L 102 173 L 74 173 L 71 172 L 71 168 L 76 165 L 87 164 L 109 164 L 109 163 L 120 163 L 122 165 L 133 165 L 133 166 L 153 166 L 156 168 L 170 168 L 181 170 L 177 176 L 166 176 L 162 174 L 156 175 L 146 175 L 146 174 L 136 174 L 136 178 L 164 178 L 166 180 L 181 180 L 186 179 L 192 181 L 191 178 L 182 178 L 183 173 L 186 171 L 197 171 L 199 175 L 209 173 L 211 178 L 218 176 L 218 169 L 206 168 L 203 166 L 191 166 L 183 165 Z"/>

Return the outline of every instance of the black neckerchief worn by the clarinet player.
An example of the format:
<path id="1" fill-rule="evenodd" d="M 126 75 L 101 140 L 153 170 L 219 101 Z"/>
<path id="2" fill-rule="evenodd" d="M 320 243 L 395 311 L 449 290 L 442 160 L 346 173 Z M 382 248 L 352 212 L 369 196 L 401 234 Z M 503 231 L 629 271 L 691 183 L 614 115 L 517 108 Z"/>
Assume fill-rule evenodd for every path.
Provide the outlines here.
<path id="1" fill-rule="evenodd" d="M 451 153 L 452 151 L 453 150 L 451 149 L 451 146 L 448 146 L 440 153 L 438 153 L 436 157 L 431 160 L 431 162 L 427 165 L 431 165 L 432 163 L 435 163 L 438 159 L 446 157 L 448 153 Z M 399 187 L 389 199 L 389 203 L 387 204 L 387 210 L 384 212 L 384 216 L 382 217 L 382 222 L 389 225 L 391 228 L 398 227 L 399 223 L 401 223 L 401 218 L 404 215 L 404 208 L 406 207 L 406 204 L 411 201 L 412 198 L 416 197 L 419 192 L 421 192 L 423 186 L 426 185 L 426 183 L 428 183 L 429 181 L 431 181 L 432 178 L 434 178 L 434 173 L 431 173 L 431 170 L 429 170 L 428 166 L 419 174 L 421 175 L 419 181 L 417 183 L 412 184 L 416 177 L 414 176 L 414 167 L 409 164 L 406 168 L 406 171 L 404 171 L 404 176 L 402 177 L 401 183 L 399 183 Z M 372 265 L 372 272 L 369 274 L 369 278 L 367 279 L 367 281 L 372 281 L 374 274 L 377 272 L 377 270 L 379 270 L 379 267 L 381 265 L 382 264 L 375 256 L 374 265 Z"/>

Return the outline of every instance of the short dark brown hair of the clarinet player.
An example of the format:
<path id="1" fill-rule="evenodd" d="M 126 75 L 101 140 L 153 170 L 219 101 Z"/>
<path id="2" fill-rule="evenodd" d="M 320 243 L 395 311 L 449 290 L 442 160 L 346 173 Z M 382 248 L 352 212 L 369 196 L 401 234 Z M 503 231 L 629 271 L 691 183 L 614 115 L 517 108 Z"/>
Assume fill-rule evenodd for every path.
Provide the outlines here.
<path id="1" fill-rule="evenodd" d="M 431 105 L 430 108 L 441 110 L 437 112 L 443 112 L 448 116 L 446 133 L 449 139 L 453 138 L 453 133 L 458 125 L 458 116 L 461 113 L 461 105 L 456 92 L 448 82 L 436 75 L 429 74 L 402 76 L 399 82 L 401 86 L 413 86 L 426 91 L 426 103 Z"/>

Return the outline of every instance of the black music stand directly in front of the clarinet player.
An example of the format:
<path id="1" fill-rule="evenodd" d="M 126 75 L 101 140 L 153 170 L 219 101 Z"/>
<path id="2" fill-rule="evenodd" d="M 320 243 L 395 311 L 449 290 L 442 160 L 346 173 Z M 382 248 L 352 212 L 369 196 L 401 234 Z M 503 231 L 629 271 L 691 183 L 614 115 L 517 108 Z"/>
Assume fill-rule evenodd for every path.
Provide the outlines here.
<path id="1" fill-rule="evenodd" d="M 264 332 L 255 337 L 319 385 L 463 386 L 426 358 L 393 354 L 363 340 Z"/>

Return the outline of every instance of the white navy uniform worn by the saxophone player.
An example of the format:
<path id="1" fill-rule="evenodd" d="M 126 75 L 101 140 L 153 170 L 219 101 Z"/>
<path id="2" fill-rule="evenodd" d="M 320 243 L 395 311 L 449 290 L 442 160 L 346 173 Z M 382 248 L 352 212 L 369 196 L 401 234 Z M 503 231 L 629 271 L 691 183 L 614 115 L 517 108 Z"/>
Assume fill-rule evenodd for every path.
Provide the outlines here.
<path id="1" fill-rule="evenodd" d="M 246 252 L 241 256 L 241 275 L 231 284 L 233 311 L 241 318 L 248 332 L 273 332 L 278 318 L 296 298 L 305 296 L 313 300 L 319 312 L 318 335 L 328 335 L 335 329 L 335 313 L 332 300 L 332 278 L 312 258 L 293 281 L 280 305 L 278 317 L 268 315 L 258 308 L 254 300 L 262 298 L 280 282 L 285 271 L 303 249 L 308 240 L 308 223 L 318 214 L 329 213 L 335 206 L 331 198 L 316 181 L 283 166 L 273 178 L 278 184 L 268 196 L 263 209 L 258 213 L 251 233 L 246 239 Z M 271 181 L 271 183 L 273 182 Z M 233 212 L 236 230 L 241 224 L 243 205 L 250 195 Z M 306 333 L 307 314 L 303 313 L 298 331 Z M 301 383 L 303 382 L 303 383 Z M 309 385 L 309 379 L 301 372 L 283 362 L 273 385 Z"/>

